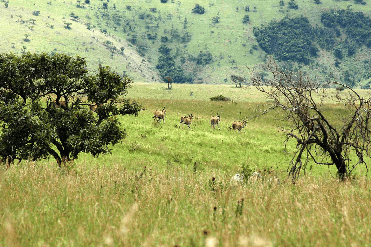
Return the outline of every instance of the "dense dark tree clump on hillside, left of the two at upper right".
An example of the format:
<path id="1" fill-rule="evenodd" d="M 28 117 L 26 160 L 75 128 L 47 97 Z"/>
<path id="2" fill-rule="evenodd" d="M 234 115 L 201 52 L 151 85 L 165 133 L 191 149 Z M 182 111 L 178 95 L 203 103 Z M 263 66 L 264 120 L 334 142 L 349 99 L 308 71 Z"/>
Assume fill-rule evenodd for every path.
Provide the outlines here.
<path id="1" fill-rule="evenodd" d="M 254 27 L 253 32 L 259 46 L 278 59 L 309 64 L 311 57 L 317 55 L 318 48 L 312 43 L 315 33 L 306 17 L 286 16 L 268 26 Z"/>

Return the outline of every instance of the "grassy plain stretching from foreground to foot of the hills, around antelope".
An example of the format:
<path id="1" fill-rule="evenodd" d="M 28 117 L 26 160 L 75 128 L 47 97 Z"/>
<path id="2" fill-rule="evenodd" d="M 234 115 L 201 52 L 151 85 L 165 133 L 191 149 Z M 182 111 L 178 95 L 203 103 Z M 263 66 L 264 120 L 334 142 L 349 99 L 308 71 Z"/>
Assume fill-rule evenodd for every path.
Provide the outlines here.
<path id="1" fill-rule="evenodd" d="M 209 100 L 217 94 L 231 101 Z M 344 182 L 309 162 L 293 183 L 296 144 L 284 144 L 280 112 L 229 130 L 267 102 L 257 90 L 138 82 L 127 97 L 146 110 L 119 117 L 127 137 L 112 155 L 0 167 L 0 246 L 370 246 L 364 168 Z M 162 106 L 165 123 L 155 123 Z M 336 121 L 346 109 L 326 111 Z M 191 130 L 179 128 L 184 114 Z M 232 180 L 249 169 L 262 178 Z"/>

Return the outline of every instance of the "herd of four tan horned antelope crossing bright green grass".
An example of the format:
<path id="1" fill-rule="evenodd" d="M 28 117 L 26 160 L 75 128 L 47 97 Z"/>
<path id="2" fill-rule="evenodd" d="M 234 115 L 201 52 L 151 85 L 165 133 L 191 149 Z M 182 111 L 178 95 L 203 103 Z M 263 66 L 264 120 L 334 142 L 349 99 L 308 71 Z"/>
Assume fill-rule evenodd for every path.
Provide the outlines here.
<path id="1" fill-rule="evenodd" d="M 166 114 L 166 108 L 163 106 L 162 111 L 160 110 L 154 111 L 153 113 L 154 116 L 152 116 L 152 118 L 154 118 L 155 122 L 158 121 L 158 123 L 161 123 L 161 119 L 162 119 L 162 122 L 165 123 L 165 114 Z M 183 123 L 182 129 L 184 128 L 184 124 L 187 125 L 189 129 L 191 129 L 190 125 L 193 119 L 193 114 L 191 115 L 187 114 L 187 115 L 188 116 L 185 116 L 185 115 L 181 116 L 180 122 L 179 122 L 179 128 L 180 128 L 180 125 Z M 220 113 L 216 113 L 216 116 L 212 116 L 210 119 L 211 128 L 215 129 L 215 125 L 217 125 L 219 128 L 219 122 L 220 122 Z M 236 129 L 238 129 L 238 131 L 241 133 L 241 130 L 243 129 L 244 126 L 246 126 L 246 123 L 247 123 L 246 119 L 243 119 L 243 122 L 234 121 L 232 123 L 232 127 L 229 127 L 229 129 L 233 129 L 233 131 L 236 131 Z"/>

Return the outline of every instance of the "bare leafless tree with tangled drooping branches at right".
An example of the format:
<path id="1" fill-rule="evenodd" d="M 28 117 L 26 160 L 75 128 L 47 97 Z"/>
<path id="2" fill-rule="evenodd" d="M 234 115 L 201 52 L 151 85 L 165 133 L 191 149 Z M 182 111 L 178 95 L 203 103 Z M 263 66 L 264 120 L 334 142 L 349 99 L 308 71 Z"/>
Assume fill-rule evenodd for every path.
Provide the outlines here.
<path id="1" fill-rule="evenodd" d="M 272 103 L 258 106 L 258 114 L 252 117 L 278 109 L 275 117 L 285 123 L 286 127 L 282 127 L 287 136 L 285 142 L 291 138 L 297 142 L 289 176 L 295 180 L 309 160 L 319 165 L 335 165 L 340 178 L 350 175 L 358 164 L 364 164 L 368 171 L 364 158 L 370 157 L 371 95 L 364 99 L 355 90 L 333 80 L 328 80 L 324 87 L 301 72 L 280 68 L 272 59 L 264 67 L 272 79 L 263 80 L 250 69 L 251 81 Z M 347 88 L 347 96 L 341 97 L 339 90 L 336 96 L 328 96 L 329 87 L 334 85 Z M 326 111 L 327 102 L 345 105 L 347 110 L 334 117 Z"/>

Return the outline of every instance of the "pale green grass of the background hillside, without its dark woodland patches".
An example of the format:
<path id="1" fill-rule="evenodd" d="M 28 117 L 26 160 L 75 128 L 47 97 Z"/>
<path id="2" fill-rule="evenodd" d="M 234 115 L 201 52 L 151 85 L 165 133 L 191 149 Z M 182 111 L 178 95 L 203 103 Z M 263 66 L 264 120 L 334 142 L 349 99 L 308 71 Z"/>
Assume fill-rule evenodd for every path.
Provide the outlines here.
<path id="1" fill-rule="evenodd" d="M 267 25 L 271 20 L 305 16 L 312 26 L 323 26 L 321 13 L 332 9 L 364 11 L 368 5 L 351 1 L 324 0 L 295 1 L 298 9 L 288 9 L 288 1 L 280 8 L 278 0 L 244 3 L 239 0 L 209 1 L 200 3 L 204 14 L 192 13 L 197 1 L 85 1 L 54 0 L 45 3 L 12 0 L 7 7 L 1 5 L 1 26 L 3 45 L 1 52 L 64 52 L 87 57 L 89 66 L 95 68 L 101 62 L 113 66 L 118 72 L 129 73 L 135 79 L 154 82 L 160 77 L 155 70 L 158 48 L 165 44 L 182 65 L 185 73 L 194 78 L 194 83 L 233 84 L 231 74 L 246 76 L 248 67 L 260 68 L 266 53 L 257 45 L 252 29 Z M 366 3 L 366 2 L 365 2 Z M 106 4 L 106 9 L 104 8 Z M 249 6 L 249 11 L 245 7 Z M 40 11 L 38 16 L 34 11 Z M 74 13 L 78 19 L 70 17 Z M 244 15 L 250 21 L 242 23 Z M 22 16 L 22 18 L 20 17 Z M 213 23 L 218 16 L 219 22 Z M 30 20 L 33 19 L 33 20 Z M 187 22 L 185 23 L 185 19 Z M 66 28 L 64 23 L 72 23 Z M 89 27 L 89 29 L 87 29 Z M 25 40 L 24 35 L 30 34 Z M 168 37 L 162 42 L 162 37 Z M 128 42 L 135 37 L 135 42 Z M 295 37 L 293 37 L 295 38 Z M 345 34 L 338 40 L 345 39 Z M 26 47 L 24 49 L 24 47 Z M 123 54 L 121 47 L 124 47 Z M 254 49 L 253 49 L 254 48 Z M 200 52 L 210 53 L 213 60 L 208 64 L 196 65 L 194 57 Z M 141 54 L 141 56 L 138 55 Z M 351 57 L 345 56 L 341 66 L 335 67 L 332 51 L 321 50 L 315 62 L 302 66 L 313 78 L 323 80 L 329 73 L 340 79 L 345 70 L 357 71 L 357 80 L 364 67 L 363 60 L 369 59 L 367 47 L 357 48 Z M 113 56 L 111 56 L 113 55 Z M 245 66 L 246 65 L 246 66 Z M 290 63 L 293 68 L 296 63 Z"/>

